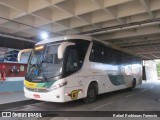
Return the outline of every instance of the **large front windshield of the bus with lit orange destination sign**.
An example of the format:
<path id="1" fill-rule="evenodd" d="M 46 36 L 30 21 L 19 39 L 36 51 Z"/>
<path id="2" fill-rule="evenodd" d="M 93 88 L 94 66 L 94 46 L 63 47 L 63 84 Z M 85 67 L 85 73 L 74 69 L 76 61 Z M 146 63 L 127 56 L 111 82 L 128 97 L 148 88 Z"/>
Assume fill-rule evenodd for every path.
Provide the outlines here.
<path id="1" fill-rule="evenodd" d="M 26 79 L 33 82 L 46 82 L 61 74 L 63 59 L 58 59 L 59 45 L 35 46 L 28 62 Z"/>

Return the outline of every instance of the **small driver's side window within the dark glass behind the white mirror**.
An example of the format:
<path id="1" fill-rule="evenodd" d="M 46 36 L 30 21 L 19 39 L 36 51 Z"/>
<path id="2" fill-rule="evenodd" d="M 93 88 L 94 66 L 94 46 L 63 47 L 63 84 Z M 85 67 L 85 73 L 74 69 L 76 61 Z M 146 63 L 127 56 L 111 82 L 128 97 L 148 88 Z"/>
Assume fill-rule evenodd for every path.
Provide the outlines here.
<path id="1" fill-rule="evenodd" d="M 78 68 L 78 53 L 76 50 L 70 50 L 66 64 L 66 72 L 68 74 L 71 74 L 73 72 L 76 72 Z"/>

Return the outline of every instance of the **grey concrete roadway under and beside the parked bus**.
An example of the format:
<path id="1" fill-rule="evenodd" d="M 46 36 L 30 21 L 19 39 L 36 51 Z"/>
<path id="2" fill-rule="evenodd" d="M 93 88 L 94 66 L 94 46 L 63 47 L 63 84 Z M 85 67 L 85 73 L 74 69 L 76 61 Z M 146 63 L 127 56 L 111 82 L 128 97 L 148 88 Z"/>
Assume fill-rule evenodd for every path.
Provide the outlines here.
<path id="1" fill-rule="evenodd" d="M 138 86 L 134 91 L 121 90 L 118 92 L 100 95 L 98 96 L 97 101 L 92 104 L 85 104 L 82 100 L 72 101 L 68 103 L 41 102 L 14 109 L 9 109 L 8 111 L 160 111 L 159 86 L 160 82 L 157 81 L 150 81 L 146 83 L 144 82 L 141 86 Z M 33 120 L 34 119 L 35 118 L 33 118 Z M 45 120 L 45 118 L 40 118 L 40 120 L 43 119 Z M 75 120 L 75 118 L 73 117 L 46 118 L 46 120 L 49 119 Z M 78 120 L 81 119 L 83 118 L 78 118 Z M 87 118 L 87 120 L 90 119 L 94 120 L 95 118 Z M 110 119 L 114 120 L 114 118 Z M 159 120 L 159 118 L 154 119 Z M 3 120 L 5 120 L 5 118 L 3 118 Z"/>

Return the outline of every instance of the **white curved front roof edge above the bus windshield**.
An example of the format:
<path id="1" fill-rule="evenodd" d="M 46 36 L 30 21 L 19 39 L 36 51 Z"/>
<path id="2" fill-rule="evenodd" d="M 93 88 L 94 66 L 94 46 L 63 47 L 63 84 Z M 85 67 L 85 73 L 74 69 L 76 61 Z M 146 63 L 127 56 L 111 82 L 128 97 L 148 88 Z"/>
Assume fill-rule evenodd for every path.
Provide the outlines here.
<path id="1" fill-rule="evenodd" d="M 86 36 L 86 35 L 66 35 L 66 36 L 60 36 L 60 37 L 55 37 L 55 38 L 50 38 L 50 39 L 47 39 L 47 40 L 43 40 L 41 42 L 38 42 L 36 45 L 50 43 L 50 42 L 57 42 L 57 41 L 62 41 L 62 40 L 69 40 L 69 39 L 83 39 L 83 40 L 92 41 L 92 37 L 91 36 Z"/>

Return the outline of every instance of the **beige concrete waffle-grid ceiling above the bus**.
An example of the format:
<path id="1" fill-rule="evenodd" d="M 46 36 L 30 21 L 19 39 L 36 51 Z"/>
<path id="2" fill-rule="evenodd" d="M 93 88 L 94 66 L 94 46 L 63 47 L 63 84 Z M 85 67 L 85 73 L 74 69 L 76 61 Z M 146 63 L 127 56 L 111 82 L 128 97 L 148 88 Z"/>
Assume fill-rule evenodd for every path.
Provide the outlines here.
<path id="1" fill-rule="evenodd" d="M 0 35 L 38 42 L 87 34 L 143 59 L 160 58 L 160 0 L 0 0 Z"/>

